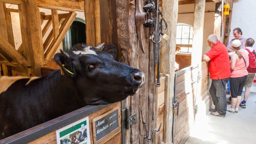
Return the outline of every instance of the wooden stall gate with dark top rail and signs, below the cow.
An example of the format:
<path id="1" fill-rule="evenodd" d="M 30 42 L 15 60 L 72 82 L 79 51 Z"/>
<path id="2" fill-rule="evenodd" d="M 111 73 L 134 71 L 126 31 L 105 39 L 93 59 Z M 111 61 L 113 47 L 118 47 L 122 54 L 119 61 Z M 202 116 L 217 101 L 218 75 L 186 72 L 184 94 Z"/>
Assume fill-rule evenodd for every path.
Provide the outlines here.
<path id="1" fill-rule="evenodd" d="M 84 108 L 78 109 L 66 115 L 57 117 L 56 119 L 47 121 L 43 124 L 37 125 L 33 128 L 27 129 L 23 132 L 2 139 L 0 140 L 0 143 L 60 144 L 61 137 L 58 137 L 56 131 L 63 128 L 65 131 L 69 130 L 69 133 L 66 134 L 66 137 L 68 137 L 70 133 L 79 133 L 80 131 L 77 130 L 75 125 L 81 128 L 81 125 L 79 125 L 80 123 L 77 124 L 77 121 L 85 119 L 84 121 L 86 122 L 85 125 L 83 125 L 83 127 L 87 127 L 89 133 L 89 135 L 87 135 L 87 138 L 90 138 L 87 140 L 87 143 L 121 144 L 122 135 L 120 110 L 120 102 L 98 106 L 88 105 Z M 99 127 L 99 125 L 101 125 L 102 127 Z M 110 127 L 113 127 L 113 129 L 109 129 Z M 74 129 L 70 131 L 71 128 Z M 104 129 L 105 131 L 108 132 L 101 131 L 99 128 L 101 128 L 101 130 Z M 65 136 L 62 137 L 65 138 Z"/>

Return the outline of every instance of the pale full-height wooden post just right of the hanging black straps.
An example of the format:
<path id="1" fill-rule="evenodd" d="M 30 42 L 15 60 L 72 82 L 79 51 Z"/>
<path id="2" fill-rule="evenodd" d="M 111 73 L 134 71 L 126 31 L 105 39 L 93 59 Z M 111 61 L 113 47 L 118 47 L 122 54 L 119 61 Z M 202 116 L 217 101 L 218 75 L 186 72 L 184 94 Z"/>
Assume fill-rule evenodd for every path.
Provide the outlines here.
<path id="1" fill-rule="evenodd" d="M 165 1 L 163 0 L 162 11 L 168 25 L 169 39 L 162 40 L 161 44 L 161 73 L 165 77 L 165 106 L 164 106 L 164 143 L 172 143 L 172 98 L 174 87 L 174 63 L 176 51 L 176 29 L 178 21 L 178 0 Z"/>

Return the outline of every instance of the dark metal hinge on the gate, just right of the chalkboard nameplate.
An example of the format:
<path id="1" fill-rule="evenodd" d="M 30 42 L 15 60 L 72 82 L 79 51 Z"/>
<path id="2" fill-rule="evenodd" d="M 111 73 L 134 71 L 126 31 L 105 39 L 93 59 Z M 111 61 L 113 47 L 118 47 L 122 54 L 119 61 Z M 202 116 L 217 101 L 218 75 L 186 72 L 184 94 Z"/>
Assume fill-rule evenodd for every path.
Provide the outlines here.
<path id="1" fill-rule="evenodd" d="M 137 113 L 130 116 L 129 108 L 122 110 L 122 121 L 125 121 L 125 128 L 129 129 L 130 126 L 137 121 Z"/>

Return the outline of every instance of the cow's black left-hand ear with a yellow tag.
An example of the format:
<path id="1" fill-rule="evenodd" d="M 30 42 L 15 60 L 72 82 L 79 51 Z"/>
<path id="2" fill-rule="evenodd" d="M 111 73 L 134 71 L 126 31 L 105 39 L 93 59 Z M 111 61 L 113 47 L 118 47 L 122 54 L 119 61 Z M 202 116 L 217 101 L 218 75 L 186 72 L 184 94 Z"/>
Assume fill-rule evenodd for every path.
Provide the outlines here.
<path id="1" fill-rule="evenodd" d="M 60 65 L 61 75 L 75 76 L 73 63 L 65 52 L 61 50 L 61 53 L 56 53 L 53 58 L 55 62 Z"/>

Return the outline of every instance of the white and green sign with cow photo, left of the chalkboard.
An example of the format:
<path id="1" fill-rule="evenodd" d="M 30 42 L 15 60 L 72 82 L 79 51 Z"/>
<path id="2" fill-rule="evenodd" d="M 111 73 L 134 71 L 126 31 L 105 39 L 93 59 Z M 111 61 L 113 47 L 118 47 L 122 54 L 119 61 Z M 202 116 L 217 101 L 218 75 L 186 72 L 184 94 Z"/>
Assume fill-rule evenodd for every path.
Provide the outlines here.
<path id="1" fill-rule="evenodd" d="M 69 124 L 56 131 L 57 144 L 91 144 L 89 117 Z"/>

